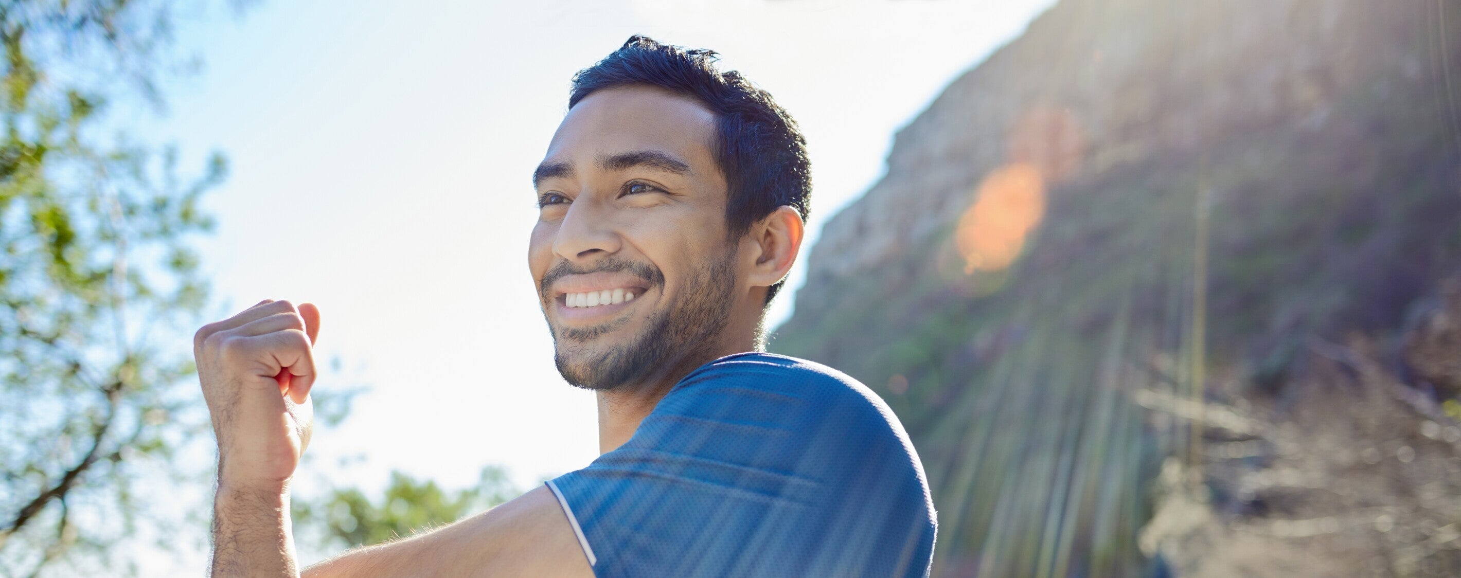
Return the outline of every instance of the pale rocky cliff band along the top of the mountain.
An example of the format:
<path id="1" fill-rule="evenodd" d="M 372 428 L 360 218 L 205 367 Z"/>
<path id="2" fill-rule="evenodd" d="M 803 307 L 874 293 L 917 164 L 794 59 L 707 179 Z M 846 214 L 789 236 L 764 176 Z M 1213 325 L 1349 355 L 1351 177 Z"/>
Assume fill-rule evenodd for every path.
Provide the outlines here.
<path id="1" fill-rule="evenodd" d="M 1363 0 L 1062 1 L 897 133 L 887 177 L 823 231 L 806 288 L 906 258 L 953 225 L 979 178 L 1018 156 L 1021 139 L 1042 149 L 1036 156 L 1077 156 L 1090 180 L 1277 127 L 1346 123 L 1335 118 L 1340 101 L 1384 101 L 1397 85 L 1443 89 L 1426 10 Z M 1461 36 L 1451 42 L 1455 51 Z M 1062 134 L 1018 131 L 1040 108 L 1069 114 L 1075 150 L 1059 150 L 1069 147 Z"/>

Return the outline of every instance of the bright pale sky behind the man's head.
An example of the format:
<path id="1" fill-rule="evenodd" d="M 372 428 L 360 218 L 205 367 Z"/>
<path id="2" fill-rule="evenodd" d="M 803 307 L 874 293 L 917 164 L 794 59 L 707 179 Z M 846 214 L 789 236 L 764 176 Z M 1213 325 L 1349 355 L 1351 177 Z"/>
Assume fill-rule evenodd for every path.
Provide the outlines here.
<path id="1" fill-rule="evenodd" d="M 576 70 L 649 34 L 714 48 L 770 90 L 811 149 L 805 255 L 882 174 L 893 133 L 1050 3 L 266 0 L 180 22 L 205 70 L 145 133 L 231 159 L 202 245 L 215 309 L 318 304 L 320 358 L 343 372 L 317 391 L 371 388 L 316 434 L 307 477 L 380 488 L 400 469 L 460 488 L 503 464 L 527 486 L 596 455 L 593 397 L 554 369 L 526 263 L 529 174 Z"/>

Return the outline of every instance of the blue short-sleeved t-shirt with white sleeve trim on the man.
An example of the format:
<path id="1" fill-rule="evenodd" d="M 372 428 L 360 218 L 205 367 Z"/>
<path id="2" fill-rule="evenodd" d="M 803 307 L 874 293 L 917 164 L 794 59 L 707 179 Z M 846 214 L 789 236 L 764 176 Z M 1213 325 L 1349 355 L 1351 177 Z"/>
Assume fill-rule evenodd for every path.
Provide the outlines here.
<path id="1" fill-rule="evenodd" d="M 548 488 L 596 577 L 926 577 L 934 553 L 923 466 L 888 406 L 780 355 L 690 372 Z"/>

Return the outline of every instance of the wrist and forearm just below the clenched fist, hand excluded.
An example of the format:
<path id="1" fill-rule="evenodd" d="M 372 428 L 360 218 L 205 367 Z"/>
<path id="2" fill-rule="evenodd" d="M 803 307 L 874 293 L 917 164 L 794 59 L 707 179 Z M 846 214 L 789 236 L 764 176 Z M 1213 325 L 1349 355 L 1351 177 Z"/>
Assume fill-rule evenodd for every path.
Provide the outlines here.
<path id="1" fill-rule="evenodd" d="M 213 578 L 298 577 L 289 490 L 219 483 L 213 498 Z"/>

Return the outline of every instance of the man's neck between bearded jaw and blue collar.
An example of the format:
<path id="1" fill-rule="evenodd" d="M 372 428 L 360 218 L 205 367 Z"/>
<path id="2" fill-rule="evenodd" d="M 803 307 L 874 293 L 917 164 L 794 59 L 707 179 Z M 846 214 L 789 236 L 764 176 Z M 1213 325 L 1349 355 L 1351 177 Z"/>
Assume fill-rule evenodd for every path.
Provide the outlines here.
<path id="1" fill-rule="evenodd" d="M 760 323 L 757 320 L 757 323 Z M 735 325 L 735 324 L 733 324 Z M 637 384 L 600 390 L 595 394 L 599 404 L 599 454 L 608 454 L 634 436 L 640 422 L 655 410 L 659 400 L 675 388 L 679 378 L 688 375 L 695 368 L 728 355 L 763 350 L 757 336 L 757 325 L 726 327 L 725 334 L 742 336 L 742 339 L 726 339 L 709 355 L 697 359 L 682 359 L 672 363 L 668 371 Z"/>

